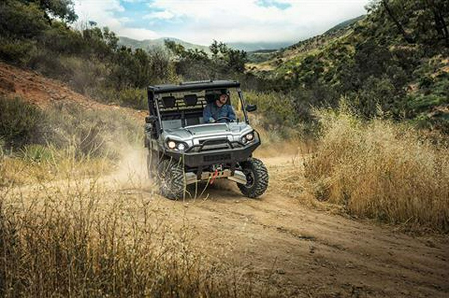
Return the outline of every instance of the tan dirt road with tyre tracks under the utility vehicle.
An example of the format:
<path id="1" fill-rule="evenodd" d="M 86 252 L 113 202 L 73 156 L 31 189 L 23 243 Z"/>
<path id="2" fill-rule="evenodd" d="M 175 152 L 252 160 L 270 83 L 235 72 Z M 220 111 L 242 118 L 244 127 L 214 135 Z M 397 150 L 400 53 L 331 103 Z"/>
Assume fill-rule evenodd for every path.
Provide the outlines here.
<path id="1" fill-rule="evenodd" d="M 264 160 L 270 173 L 298 166 L 292 155 Z M 271 187 L 256 200 L 223 181 L 202 198 L 154 196 L 152 203 L 175 226 L 193 229 L 197 247 L 208 257 L 269 276 L 286 296 L 448 297 L 447 237 L 412 237 L 312 210 L 279 194 L 279 178 L 270 179 Z"/>

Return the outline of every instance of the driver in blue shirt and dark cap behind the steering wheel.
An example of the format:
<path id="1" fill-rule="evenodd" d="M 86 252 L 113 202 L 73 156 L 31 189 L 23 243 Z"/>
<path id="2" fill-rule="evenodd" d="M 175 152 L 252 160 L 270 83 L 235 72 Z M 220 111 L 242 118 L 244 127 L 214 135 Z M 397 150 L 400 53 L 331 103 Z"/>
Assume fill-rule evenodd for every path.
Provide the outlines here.
<path id="1" fill-rule="evenodd" d="M 208 103 L 206 108 L 203 110 L 203 119 L 205 123 L 216 122 L 233 122 L 235 121 L 235 113 L 232 106 L 228 102 L 229 95 L 227 95 L 226 90 L 220 91 L 220 97 L 214 102 Z"/>

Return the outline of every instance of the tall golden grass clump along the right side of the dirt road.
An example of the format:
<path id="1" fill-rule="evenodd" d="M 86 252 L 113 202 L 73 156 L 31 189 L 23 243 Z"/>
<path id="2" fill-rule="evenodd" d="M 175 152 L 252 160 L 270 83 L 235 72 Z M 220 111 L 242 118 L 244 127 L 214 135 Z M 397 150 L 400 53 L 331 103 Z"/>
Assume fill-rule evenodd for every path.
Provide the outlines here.
<path id="1" fill-rule="evenodd" d="M 318 111 L 315 153 L 305 161 L 311 192 L 348 212 L 449 231 L 449 149 L 416 130 L 363 122 L 344 105 Z"/>

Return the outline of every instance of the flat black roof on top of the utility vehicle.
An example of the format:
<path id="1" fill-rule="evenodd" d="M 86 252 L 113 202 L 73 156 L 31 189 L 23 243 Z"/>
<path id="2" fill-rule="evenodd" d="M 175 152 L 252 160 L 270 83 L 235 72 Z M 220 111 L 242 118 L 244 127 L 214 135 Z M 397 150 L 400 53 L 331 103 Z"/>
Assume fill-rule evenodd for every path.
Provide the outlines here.
<path id="1" fill-rule="evenodd" d="M 169 92 L 183 92 L 183 91 L 201 91 L 212 89 L 238 88 L 240 83 L 237 81 L 220 80 L 220 81 L 195 81 L 183 82 L 179 85 L 155 85 L 149 86 L 148 89 L 155 94 L 169 93 Z"/>

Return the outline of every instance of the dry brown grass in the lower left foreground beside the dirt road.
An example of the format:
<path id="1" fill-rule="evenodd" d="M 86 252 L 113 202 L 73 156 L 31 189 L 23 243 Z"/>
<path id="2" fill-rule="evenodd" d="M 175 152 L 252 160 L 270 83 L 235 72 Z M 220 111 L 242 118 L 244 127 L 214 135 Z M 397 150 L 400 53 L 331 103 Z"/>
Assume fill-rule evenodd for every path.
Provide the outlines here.
<path id="1" fill-rule="evenodd" d="M 195 251 L 193 231 L 152 192 L 99 181 L 0 188 L 2 297 L 270 296 Z"/>

